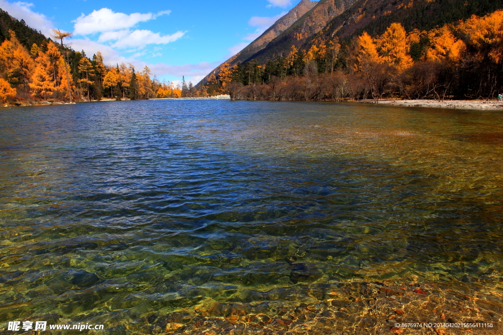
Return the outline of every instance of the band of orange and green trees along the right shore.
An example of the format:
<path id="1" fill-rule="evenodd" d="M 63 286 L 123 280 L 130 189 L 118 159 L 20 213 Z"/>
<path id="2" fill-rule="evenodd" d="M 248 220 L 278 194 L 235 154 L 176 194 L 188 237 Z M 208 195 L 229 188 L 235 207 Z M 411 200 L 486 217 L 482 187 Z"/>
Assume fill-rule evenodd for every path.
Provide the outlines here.
<path id="1" fill-rule="evenodd" d="M 292 46 L 265 65 L 224 64 L 206 89 L 254 100 L 492 98 L 502 90 L 502 61 L 503 11 L 496 11 L 429 31 L 392 23 L 376 37 Z"/>

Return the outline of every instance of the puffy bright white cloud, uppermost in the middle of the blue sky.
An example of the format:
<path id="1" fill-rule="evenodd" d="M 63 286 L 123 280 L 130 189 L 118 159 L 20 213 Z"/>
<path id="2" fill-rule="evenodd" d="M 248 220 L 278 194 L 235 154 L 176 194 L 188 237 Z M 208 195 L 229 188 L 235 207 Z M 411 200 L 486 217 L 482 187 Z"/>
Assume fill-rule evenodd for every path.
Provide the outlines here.
<path id="1" fill-rule="evenodd" d="M 140 22 L 149 21 L 170 13 L 171 11 L 161 11 L 157 14 L 133 13 L 127 15 L 124 13 L 115 13 L 108 8 L 102 8 L 99 11 L 93 11 L 93 13 L 87 16 L 82 14 L 72 22 L 75 23 L 73 29 L 76 35 L 90 35 L 131 28 Z"/>

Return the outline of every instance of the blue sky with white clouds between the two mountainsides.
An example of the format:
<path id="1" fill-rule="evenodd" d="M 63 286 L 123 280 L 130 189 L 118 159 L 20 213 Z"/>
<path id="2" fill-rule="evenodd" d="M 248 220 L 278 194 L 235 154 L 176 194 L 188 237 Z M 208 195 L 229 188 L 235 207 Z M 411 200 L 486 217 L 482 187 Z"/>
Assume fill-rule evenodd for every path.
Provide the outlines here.
<path id="1" fill-rule="evenodd" d="M 158 77 L 199 82 L 300 0 L 0 0 L 0 8 L 49 36 L 73 32 L 75 50 L 106 64 L 148 65 Z"/>

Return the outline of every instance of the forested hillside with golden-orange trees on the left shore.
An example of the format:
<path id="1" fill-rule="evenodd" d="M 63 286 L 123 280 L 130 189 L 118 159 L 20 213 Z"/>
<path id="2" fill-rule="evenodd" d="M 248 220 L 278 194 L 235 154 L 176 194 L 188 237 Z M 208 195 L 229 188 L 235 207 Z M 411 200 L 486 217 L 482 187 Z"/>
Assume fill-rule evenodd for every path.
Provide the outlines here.
<path id="1" fill-rule="evenodd" d="M 105 65 L 100 52 L 88 57 L 84 51 L 46 38 L 2 10 L 0 37 L 2 105 L 205 94 L 185 80 L 181 87 L 160 82 L 146 66 L 136 71 L 131 64 Z"/>

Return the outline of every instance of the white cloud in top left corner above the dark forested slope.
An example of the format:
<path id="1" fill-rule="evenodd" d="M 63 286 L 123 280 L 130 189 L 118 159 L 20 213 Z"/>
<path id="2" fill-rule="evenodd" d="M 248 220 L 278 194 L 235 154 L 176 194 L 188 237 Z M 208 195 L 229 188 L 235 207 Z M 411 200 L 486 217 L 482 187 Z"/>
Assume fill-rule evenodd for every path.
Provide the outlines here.
<path id="1" fill-rule="evenodd" d="M 33 4 L 16 2 L 9 3 L 6 0 L 0 0 L 0 8 L 8 12 L 13 18 L 25 20 L 26 24 L 31 28 L 39 30 L 46 37 L 51 37 L 54 25 L 43 14 L 35 13 L 31 10 Z"/>

